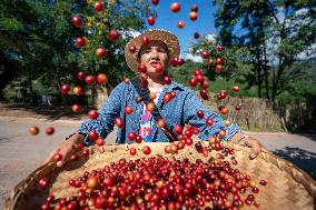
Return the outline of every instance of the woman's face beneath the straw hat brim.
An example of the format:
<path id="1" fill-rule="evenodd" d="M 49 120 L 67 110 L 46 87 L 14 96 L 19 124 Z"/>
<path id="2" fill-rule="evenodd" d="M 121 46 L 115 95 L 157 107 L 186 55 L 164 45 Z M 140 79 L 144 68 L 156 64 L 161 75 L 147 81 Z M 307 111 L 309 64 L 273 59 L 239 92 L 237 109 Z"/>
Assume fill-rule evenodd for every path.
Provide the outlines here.
<path id="1" fill-rule="evenodd" d="M 162 74 L 168 67 L 168 50 L 161 41 L 150 41 L 142 46 L 139 56 L 139 62 L 147 68 L 148 74 Z"/>

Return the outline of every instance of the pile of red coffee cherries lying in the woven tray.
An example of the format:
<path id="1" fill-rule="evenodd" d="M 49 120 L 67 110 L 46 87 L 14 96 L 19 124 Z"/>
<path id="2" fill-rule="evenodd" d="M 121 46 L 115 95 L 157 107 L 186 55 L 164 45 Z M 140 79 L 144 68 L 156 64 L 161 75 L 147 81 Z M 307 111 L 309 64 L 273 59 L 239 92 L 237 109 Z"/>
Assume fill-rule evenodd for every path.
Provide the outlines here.
<path id="1" fill-rule="evenodd" d="M 201 143 L 195 149 L 201 153 Z M 211 147 L 209 147 L 211 148 Z M 220 151 L 219 151 L 220 150 Z M 234 169 L 234 149 L 220 144 L 207 162 L 172 156 L 111 162 L 70 179 L 71 198 L 49 196 L 41 209 L 240 209 L 259 207 L 259 189 L 251 178 Z M 261 180 L 261 186 L 267 182 Z"/>

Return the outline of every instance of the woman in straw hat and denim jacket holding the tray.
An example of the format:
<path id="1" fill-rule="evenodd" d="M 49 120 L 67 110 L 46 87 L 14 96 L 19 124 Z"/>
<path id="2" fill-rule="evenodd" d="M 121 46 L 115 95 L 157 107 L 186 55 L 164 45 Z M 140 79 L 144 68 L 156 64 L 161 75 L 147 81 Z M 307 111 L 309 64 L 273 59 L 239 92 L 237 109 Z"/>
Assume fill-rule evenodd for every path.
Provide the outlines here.
<path id="1" fill-rule="evenodd" d="M 146 77 L 142 73 L 141 79 L 119 83 L 99 110 L 98 119 L 83 121 L 78 132 L 61 142 L 45 163 L 51 161 L 56 153 L 60 153 L 62 160 L 58 166 L 62 166 L 76 144 L 91 144 L 88 138 L 91 130 L 106 138 L 113 130 L 113 122 L 118 117 L 124 120 L 125 126 L 118 130 L 117 143 L 135 142 L 136 136 L 147 142 L 168 142 L 176 137 L 174 132 L 176 124 L 184 127 L 189 123 L 199 129 L 198 137 L 203 140 L 208 140 L 220 130 L 225 130 L 224 140 L 251 147 L 251 159 L 260 151 L 267 151 L 256 139 L 244 134 L 237 124 L 225 126 L 225 120 L 207 109 L 189 88 L 174 81 L 168 84 L 164 82 L 167 68 L 179 53 L 177 37 L 165 30 L 148 30 L 130 40 L 125 49 L 127 64 L 135 72 L 146 72 Z M 155 106 L 150 103 L 148 90 L 151 92 L 151 99 L 156 94 Z M 170 92 L 175 97 L 168 101 L 164 100 L 164 96 Z M 142 101 L 139 100 L 140 96 Z M 152 107 L 156 107 L 155 110 Z M 126 108 L 129 109 L 128 114 Z M 198 111 L 201 111 L 204 117 L 198 117 Z M 160 118 L 164 119 L 166 129 L 157 126 L 157 120 Z M 206 119 L 211 119 L 214 123 L 207 126 Z"/>

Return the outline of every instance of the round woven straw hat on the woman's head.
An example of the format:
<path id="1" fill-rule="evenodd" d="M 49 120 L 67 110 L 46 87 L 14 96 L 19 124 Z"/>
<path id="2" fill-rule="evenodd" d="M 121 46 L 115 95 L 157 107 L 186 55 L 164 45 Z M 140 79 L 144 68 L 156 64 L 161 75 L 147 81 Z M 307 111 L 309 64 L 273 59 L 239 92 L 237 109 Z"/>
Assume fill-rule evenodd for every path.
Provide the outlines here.
<path id="1" fill-rule="evenodd" d="M 178 58 L 180 54 L 180 46 L 179 46 L 179 40 L 178 38 L 166 30 L 162 29 L 151 29 L 151 30 L 147 30 L 145 32 L 142 32 L 140 36 L 131 39 L 125 48 L 125 59 L 126 62 L 128 64 L 128 67 L 134 71 L 134 72 L 138 72 L 138 61 L 137 61 L 137 57 L 138 57 L 138 52 L 141 48 L 142 43 L 142 37 L 147 37 L 150 41 L 156 40 L 156 41 L 162 41 L 164 43 L 166 43 L 167 48 L 168 48 L 168 53 L 169 53 L 169 62 L 175 59 Z M 135 52 L 130 52 L 129 48 L 134 46 L 136 47 L 136 51 Z"/>

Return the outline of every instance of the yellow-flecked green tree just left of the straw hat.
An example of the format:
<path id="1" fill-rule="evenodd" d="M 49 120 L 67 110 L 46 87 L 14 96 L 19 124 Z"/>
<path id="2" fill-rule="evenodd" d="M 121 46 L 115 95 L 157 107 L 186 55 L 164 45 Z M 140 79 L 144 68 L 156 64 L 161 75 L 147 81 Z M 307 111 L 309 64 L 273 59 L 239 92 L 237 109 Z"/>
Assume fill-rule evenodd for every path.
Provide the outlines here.
<path id="1" fill-rule="evenodd" d="M 108 1 L 101 12 L 96 12 L 90 2 L 89 11 L 80 11 L 83 19 L 81 36 L 86 37 L 87 44 L 71 54 L 71 60 L 78 63 L 85 73 L 97 74 L 105 72 L 108 76 L 109 87 L 112 88 L 131 71 L 125 63 L 124 50 L 132 33 L 145 29 L 145 17 L 151 11 L 148 1 Z M 119 39 L 111 41 L 108 32 L 115 29 Z M 99 59 L 96 50 L 100 47 L 107 49 L 107 56 Z"/>

